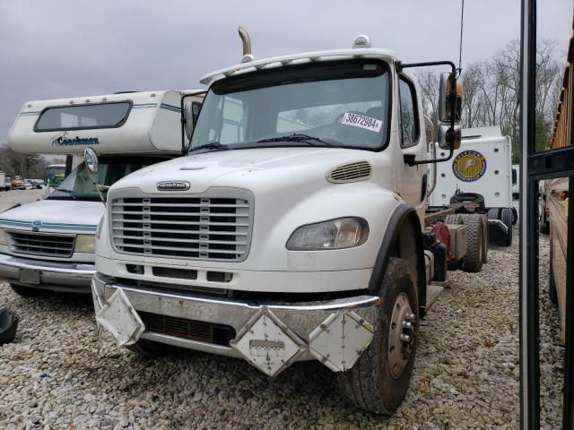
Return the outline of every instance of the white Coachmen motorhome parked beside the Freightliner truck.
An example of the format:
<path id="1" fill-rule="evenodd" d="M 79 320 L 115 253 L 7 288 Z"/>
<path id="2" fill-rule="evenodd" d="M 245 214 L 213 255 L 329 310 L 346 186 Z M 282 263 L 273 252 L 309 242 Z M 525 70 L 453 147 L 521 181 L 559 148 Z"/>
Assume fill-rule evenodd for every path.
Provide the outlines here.
<path id="1" fill-rule="evenodd" d="M 0 214 L 0 280 L 25 297 L 47 289 L 90 293 L 100 199 L 121 177 L 181 154 L 182 97 L 149 91 L 24 104 L 8 135 L 11 148 L 75 155 L 76 162 L 45 200 Z M 101 155 L 100 190 L 81 162 L 87 146 Z"/>

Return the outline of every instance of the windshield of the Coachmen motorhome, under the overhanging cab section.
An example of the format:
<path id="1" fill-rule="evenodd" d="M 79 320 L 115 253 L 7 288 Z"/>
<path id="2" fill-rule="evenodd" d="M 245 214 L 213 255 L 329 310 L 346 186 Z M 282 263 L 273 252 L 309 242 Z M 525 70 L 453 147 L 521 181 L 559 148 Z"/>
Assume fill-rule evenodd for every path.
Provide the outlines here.
<path id="1" fill-rule="evenodd" d="M 94 175 L 94 179 L 99 185 L 111 186 L 135 170 L 165 160 L 166 158 L 161 157 L 102 157 L 98 173 Z M 106 196 L 108 191 L 101 189 L 101 193 Z M 91 176 L 85 163 L 82 163 L 70 175 L 65 176 L 65 179 L 58 185 L 54 193 L 50 194 L 48 199 L 99 201 L 100 195 L 91 182 Z"/>

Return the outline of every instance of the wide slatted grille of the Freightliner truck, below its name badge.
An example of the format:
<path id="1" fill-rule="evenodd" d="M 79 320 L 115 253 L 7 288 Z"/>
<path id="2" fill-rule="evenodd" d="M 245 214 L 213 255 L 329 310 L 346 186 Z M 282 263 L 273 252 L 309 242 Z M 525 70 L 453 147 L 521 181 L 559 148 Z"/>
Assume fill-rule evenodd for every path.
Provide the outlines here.
<path id="1" fill-rule="evenodd" d="M 120 253 L 242 261 L 252 204 L 236 197 L 123 197 L 111 201 L 111 235 Z"/>

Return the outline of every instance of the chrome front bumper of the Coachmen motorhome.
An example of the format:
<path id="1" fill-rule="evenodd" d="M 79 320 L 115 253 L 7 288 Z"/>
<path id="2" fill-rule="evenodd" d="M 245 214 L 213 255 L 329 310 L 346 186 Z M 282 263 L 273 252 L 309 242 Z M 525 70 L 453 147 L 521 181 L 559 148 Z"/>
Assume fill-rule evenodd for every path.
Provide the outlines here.
<path id="1" fill-rule="evenodd" d="M 89 294 L 95 272 L 95 266 L 85 262 L 47 262 L 0 254 L 0 280 L 23 287 Z"/>

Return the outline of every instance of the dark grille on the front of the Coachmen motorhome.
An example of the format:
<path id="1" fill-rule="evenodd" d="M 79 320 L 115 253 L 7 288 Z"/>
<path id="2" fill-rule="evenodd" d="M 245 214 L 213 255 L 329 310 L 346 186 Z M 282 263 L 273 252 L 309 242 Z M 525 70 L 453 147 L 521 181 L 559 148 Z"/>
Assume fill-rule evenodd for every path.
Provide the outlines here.
<path id="1" fill-rule="evenodd" d="M 74 235 L 14 230 L 8 230 L 6 233 L 10 251 L 16 254 L 65 258 L 74 253 Z"/>

